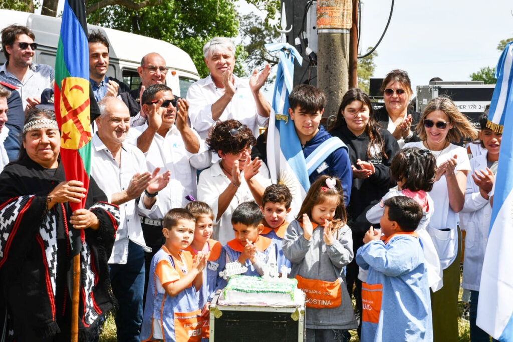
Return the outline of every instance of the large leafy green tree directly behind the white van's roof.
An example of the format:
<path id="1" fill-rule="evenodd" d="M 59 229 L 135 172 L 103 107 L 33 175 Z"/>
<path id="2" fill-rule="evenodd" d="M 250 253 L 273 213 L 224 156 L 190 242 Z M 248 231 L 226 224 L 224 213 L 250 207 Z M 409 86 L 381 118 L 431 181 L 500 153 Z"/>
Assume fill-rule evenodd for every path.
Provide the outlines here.
<path id="1" fill-rule="evenodd" d="M 89 0 L 88 6 L 103 1 Z M 214 36 L 235 37 L 239 28 L 235 0 L 170 0 L 138 10 L 106 6 L 91 12 L 87 19 L 90 24 L 142 34 L 180 47 L 191 56 L 201 77 L 208 75 L 203 45 Z M 238 52 L 242 52 L 241 48 Z M 236 62 L 235 73 L 244 75 L 243 53 Z"/>

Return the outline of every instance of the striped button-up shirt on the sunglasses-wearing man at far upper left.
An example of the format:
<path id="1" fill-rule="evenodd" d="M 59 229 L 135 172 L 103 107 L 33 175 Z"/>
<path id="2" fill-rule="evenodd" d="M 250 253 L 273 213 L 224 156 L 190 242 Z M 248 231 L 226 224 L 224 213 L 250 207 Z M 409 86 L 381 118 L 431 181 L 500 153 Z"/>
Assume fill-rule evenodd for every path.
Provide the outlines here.
<path id="1" fill-rule="evenodd" d="M 27 108 L 27 97 L 41 98 L 41 93 L 46 88 L 53 88 L 53 68 L 46 64 L 31 64 L 23 81 L 7 71 L 7 62 L 0 66 L 0 82 L 8 83 L 18 89 L 22 98 L 23 108 Z"/>

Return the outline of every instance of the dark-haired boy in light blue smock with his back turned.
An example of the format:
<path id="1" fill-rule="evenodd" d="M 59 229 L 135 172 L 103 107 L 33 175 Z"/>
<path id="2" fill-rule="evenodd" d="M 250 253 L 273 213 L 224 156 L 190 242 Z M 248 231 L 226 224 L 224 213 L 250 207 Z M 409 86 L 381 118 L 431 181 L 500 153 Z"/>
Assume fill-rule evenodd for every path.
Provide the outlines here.
<path id="1" fill-rule="evenodd" d="M 381 234 L 372 227 L 356 262 L 362 284 L 362 342 L 432 341 L 431 301 L 422 243 L 415 230 L 422 208 L 412 198 L 385 200 Z"/>

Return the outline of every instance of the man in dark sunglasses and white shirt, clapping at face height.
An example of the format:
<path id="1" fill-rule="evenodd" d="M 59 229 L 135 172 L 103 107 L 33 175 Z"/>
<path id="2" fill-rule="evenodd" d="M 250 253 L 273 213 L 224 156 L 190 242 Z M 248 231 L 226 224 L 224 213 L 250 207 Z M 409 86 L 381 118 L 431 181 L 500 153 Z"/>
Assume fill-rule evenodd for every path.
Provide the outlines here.
<path id="1" fill-rule="evenodd" d="M 141 216 L 144 239 L 152 249 L 145 253 L 147 284 L 151 258 L 163 244 L 162 220 L 170 209 L 185 207 L 186 196 L 196 197 L 196 170 L 210 166 L 212 153 L 187 124 L 187 101 L 175 97 L 169 87 L 148 87 L 141 102 L 148 120 L 131 128 L 127 141 L 143 151 L 149 168 L 171 172 L 169 183 L 159 191 L 156 210 Z"/>

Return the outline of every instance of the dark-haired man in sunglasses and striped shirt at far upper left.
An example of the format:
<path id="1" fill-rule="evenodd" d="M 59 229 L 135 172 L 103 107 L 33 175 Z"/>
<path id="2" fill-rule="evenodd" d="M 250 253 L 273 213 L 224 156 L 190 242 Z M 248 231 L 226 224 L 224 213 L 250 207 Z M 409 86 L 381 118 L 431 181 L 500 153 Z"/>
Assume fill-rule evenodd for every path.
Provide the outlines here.
<path id="1" fill-rule="evenodd" d="M 7 62 L 0 66 L 0 82 L 17 88 L 25 111 L 40 104 L 44 89 L 53 88 L 53 68 L 33 62 L 37 49 L 34 39 L 34 33 L 26 26 L 10 25 L 2 30 Z"/>

